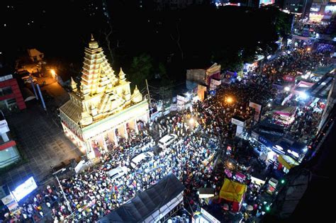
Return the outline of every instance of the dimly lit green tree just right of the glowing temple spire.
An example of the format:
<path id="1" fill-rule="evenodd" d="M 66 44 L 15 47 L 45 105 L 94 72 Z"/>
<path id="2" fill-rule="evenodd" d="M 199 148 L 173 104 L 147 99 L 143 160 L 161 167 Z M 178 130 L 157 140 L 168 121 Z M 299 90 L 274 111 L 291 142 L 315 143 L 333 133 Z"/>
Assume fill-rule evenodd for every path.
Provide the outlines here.
<path id="1" fill-rule="evenodd" d="M 130 81 L 133 86 L 138 85 L 138 88 L 145 87 L 145 79 L 153 77 L 153 59 L 150 55 L 142 54 L 138 57 L 133 57 L 130 64 Z"/>

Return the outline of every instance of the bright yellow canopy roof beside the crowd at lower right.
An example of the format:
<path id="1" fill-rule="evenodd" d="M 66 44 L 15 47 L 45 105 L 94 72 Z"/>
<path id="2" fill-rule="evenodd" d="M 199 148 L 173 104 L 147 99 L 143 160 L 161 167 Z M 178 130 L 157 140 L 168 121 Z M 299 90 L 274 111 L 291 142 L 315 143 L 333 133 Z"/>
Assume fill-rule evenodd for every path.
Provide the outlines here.
<path id="1" fill-rule="evenodd" d="M 247 186 L 225 178 L 219 197 L 233 202 L 241 202 Z"/>

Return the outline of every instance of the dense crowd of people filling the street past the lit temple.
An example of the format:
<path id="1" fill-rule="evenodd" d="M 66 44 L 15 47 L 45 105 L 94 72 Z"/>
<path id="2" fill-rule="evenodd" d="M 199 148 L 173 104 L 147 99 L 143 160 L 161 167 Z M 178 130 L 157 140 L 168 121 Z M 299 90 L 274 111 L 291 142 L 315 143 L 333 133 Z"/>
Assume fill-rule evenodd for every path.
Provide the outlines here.
<path id="1" fill-rule="evenodd" d="M 213 162 L 216 152 L 223 150 L 228 139 L 235 138 L 236 126 L 232 118 L 239 118 L 247 125 L 254 122 L 255 110 L 250 108 L 250 102 L 267 107 L 276 95 L 276 90 L 272 88 L 275 80 L 284 75 L 297 76 L 298 72 L 327 64 L 329 60 L 323 54 L 313 54 L 303 48 L 280 55 L 265 64 L 262 69 L 264 75 L 220 86 L 214 96 L 194 103 L 190 109 L 150 122 L 145 126 L 146 130 L 138 135 L 132 132 L 128 139 L 121 139 L 118 146 L 106 139 L 106 150 L 97 142 L 94 148 L 101 160 L 99 164 L 71 178 L 61 179 L 62 189 L 47 185 L 45 190 L 21 205 L 18 212 L 13 215 L 7 212 L 2 218 L 4 222 L 38 222 L 40 219 L 49 222 L 96 222 L 170 172 L 186 188 L 185 206 L 196 210 L 200 205 L 198 188 L 212 187 L 218 194 L 223 183 L 223 170 L 218 171 Z M 311 125 L 316 125 L 319 118 L 313 108 L 303 105 L 298 109 L 289 131 L 296 132 L 298 138 L 313 134 Z M 154 149 L 153 132 L 158 132 L 159 137 L 175 134 L 177 141 L 157 151 Z M 145 158 L 135 167 L 130 165 L 136 155 L 146 151 L 155 151 L 155 155 Z M 235 152 L 232 159 L 237 159 Z M 125 167 L 127 173 L 111 178 L 108 172 L 118 167 Z M 242 172 L 249 173 L 252 169 L 245 168 Z M 252 185 L 249 193 L 252 196 L 248 198 L 249 202 L 257 205 L 257 215 L 262 202 L 253 198 L 258 197 L 262 190 Z"/>

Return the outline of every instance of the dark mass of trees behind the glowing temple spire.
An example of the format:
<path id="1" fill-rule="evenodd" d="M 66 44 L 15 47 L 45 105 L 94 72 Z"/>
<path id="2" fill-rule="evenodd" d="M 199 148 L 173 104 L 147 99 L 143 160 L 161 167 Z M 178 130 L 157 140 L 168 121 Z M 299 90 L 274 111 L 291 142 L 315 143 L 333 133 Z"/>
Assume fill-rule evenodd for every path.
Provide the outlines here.
<path id="1" fill-rule="evenodd" d="M 131 81 L 140 84 L 160 71 L 162 83 L 170 83 L 183 81 L 186 69 L 205 68 L 211 62 L 238 70 L 257 54 L 274 52 L 276 40 L 286 37 L 291 27 L 288 14 L 269 6 L 158 12 L 138 8 L 133 1 L 96 1 L 98 9 L 88 8 L 89 2 L 13 1 L 16 11 L 4 14 L 8 25 L 1 27 L 2 59 L 10 62 L 27 47 L 36 47 L 64 68 L 72 64 L 80 69 L 93 33 L 113 66 L 130 72 Z M 34 23 L 27 25 L 26 18 Z"/>

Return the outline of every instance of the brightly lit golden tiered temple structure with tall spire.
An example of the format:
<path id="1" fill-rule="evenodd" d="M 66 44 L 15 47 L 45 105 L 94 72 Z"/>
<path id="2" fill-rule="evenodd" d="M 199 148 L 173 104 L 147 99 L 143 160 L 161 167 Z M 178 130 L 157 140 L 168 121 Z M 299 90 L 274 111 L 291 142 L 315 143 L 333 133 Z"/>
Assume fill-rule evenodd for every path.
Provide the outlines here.
<path id="1" fill-rule="evenodd" d="M 136 86 L 130 92 L 123 70 L 114 74 L 93 37 L 84 53 L 82 80 L 77 86 L 72 79 L 70 100 L 60 108 L 60 118 L 67 137 L 92 159 L 97 146 L 107 149 L 106 141 L 118 144 L 130 131 L 138 132 L 138 122 L 147 122 L 149 109 Z"/>

